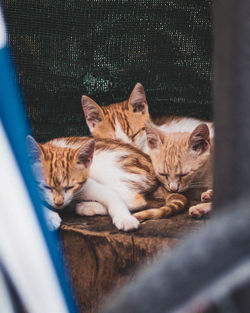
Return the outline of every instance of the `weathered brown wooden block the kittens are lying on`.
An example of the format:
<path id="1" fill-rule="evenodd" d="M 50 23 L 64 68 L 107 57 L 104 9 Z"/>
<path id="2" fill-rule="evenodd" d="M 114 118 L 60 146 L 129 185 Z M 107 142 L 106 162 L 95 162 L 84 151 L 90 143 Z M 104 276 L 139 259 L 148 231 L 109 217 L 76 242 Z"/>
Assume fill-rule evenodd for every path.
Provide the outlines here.
<path id="1" fill-rule="evenodd" d="M 61 238 L 81 312 L 92 313 L 125 280 L 132 280 L 141 264 L 150 264 L 206 219 L 187 213 L 147 221 L 130 233 L 118 231 L 107 216 L 64 215 Z"/>

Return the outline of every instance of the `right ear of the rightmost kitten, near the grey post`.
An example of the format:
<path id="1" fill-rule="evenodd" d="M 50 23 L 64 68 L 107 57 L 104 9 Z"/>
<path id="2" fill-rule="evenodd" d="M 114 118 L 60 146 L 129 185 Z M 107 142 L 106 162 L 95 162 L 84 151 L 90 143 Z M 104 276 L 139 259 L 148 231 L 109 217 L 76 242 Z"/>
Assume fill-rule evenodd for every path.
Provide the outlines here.
<path id="1" fill-rule="evenodd" d="M 198 125 L 189 137 L 189 149 L 198 154 L 207 151 L 210 145 L 209 128 L 207 124 Z"/>

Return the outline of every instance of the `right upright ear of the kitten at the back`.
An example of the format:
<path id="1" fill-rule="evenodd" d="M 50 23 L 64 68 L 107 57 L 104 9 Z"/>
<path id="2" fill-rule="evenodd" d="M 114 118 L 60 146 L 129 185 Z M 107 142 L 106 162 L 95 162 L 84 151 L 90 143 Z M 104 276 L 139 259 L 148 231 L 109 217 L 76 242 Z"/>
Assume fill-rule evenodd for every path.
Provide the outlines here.
<path id="1" fill-rule="evenodd" d="M 148 113 L 148 103 L 144 88 L 141 83 L 137 83 L 129 97 L 128 104 L 134 113 Z"/>

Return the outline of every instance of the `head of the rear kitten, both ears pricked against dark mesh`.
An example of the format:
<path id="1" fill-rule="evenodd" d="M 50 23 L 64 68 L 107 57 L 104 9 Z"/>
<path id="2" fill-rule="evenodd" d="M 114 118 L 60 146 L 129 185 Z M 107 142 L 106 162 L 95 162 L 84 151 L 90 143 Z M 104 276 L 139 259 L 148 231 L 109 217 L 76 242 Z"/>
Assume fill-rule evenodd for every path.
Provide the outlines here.
<path id="1" fill-rule="evenodd" d="M 144 122 L 150 121 L 144 88 L 140 83 L 135 85 L 128 100 L 104 107 L 82 96 L 82 108 L 95 138 L 112 138 L 133 144 L 144 133 Z"/>

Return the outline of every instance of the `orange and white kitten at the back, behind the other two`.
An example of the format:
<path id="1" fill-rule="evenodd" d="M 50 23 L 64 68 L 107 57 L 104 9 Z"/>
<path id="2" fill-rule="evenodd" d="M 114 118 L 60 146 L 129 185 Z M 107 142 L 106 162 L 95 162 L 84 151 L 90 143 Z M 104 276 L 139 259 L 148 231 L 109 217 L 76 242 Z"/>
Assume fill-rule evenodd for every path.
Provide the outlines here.
<path id="1" fill-rule="evenodd" d="M 151 120 L 142 84 L 137 83 L 128 100 L 100 107 L 87 96 L 82 96 L 82 108 L 91 134 L 95 138 L 113 138 L 130 143 L 149 153 L 145 122 Z M 202 121 L 189 117 L 163 116 L 154 122 L 164 132 L 192 132 Z M 206 122 L 213 132 L 213 124 Z"/>

